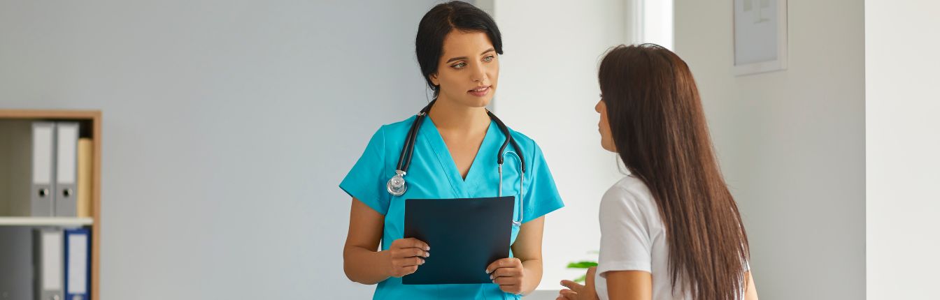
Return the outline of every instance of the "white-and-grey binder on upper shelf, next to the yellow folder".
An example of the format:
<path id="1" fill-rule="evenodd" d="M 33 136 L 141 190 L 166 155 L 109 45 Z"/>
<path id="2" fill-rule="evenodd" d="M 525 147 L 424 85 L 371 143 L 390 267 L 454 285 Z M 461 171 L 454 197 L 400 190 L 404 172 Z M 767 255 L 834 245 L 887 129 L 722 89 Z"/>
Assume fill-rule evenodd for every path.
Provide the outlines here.
<path id="1" fill-rule="evenodd" d="M 55 217 L 77 217 L 78 123 L 55 124 Z"/>

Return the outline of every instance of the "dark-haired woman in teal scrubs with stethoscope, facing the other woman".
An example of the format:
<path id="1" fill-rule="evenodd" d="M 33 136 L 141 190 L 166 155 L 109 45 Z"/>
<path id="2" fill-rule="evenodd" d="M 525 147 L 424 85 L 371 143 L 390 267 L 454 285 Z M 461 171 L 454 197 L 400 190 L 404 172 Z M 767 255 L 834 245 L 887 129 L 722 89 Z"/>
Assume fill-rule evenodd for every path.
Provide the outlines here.
<path id="1" fill-rule="evenodd" d="M 520 214 L 523 218 L 521 226 L 506 228 L 511 231 L 509 258 L 479 270 L 490 274 L 493 283 L 401 284 L 401 277 L 415 273 L 433 253 L 433 245 L 403 238 L 405 199 L 497 195 L 500 175 L 495 162 L 507 138 L 486 111 L 496 91 L 498 54 L 503 52 L 499 29 L 488 14 L 458 1 L 431 8 L 418 25 L 415 51 L 434 104 L 417 128 L 404 194 L 393 195 L 386 183 L 396 175 L 415 116 L 379 128 L 339 184 L 352 196 L 343 249 L 346 276 L 378 284 L 374 299 L 519 299 L 541 279 L 543 216 L 564 204 L 539 145 L 511 129 L 519 149 L 505 151 L 502 193 L 517 195 L 514 220 Z M 517 151 L 525 158 L 525 176 Z"/>

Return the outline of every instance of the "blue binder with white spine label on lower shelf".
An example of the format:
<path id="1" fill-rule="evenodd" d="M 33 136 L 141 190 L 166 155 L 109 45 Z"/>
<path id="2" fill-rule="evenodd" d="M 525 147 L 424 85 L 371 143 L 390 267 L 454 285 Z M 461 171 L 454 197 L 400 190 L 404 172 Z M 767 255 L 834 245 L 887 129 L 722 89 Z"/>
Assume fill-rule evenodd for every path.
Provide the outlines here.
<path id="1" fill-rule="evenodd" d="M 91 295 L 91 232 L 65 230 L 65 298 L 88 300 Z"/>

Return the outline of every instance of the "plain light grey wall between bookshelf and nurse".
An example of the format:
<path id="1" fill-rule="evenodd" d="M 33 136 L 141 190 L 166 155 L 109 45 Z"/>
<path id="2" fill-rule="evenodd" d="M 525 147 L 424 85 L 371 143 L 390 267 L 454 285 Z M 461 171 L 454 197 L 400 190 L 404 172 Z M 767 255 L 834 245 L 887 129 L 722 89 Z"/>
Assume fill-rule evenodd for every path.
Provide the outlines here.
<path id="1" fill-rule="evenodd" d="M 0 1 L 0 108 L 102 110 L 102 299 L 366 298 L 337 184 L 433 2 Z"/>

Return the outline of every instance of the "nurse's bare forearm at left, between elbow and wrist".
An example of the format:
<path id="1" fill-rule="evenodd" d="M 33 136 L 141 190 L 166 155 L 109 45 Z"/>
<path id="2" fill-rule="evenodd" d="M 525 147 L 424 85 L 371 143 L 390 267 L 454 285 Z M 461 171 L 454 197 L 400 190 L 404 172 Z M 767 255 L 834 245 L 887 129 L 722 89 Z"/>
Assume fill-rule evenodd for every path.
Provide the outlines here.
<path id="1" fill-rule="evenodd" d="M 387 264 L 385 251 L 374 251 L 361 247 L 343 250 L 343 271 L 350 280 L 362 284 L 376 284 L 391 277 L 383 266 Z"/>

